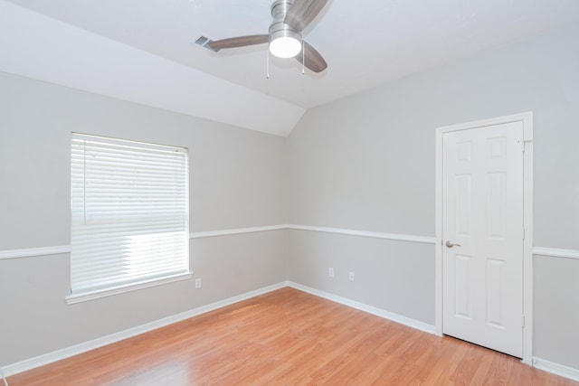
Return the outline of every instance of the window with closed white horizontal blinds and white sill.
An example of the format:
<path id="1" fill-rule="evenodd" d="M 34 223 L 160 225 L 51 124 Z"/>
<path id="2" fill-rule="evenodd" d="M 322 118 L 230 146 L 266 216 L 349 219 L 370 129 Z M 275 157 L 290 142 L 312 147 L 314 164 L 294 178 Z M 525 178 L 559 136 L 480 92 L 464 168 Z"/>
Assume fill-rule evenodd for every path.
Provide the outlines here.
<path id="1" fill-rule="evenodd" d="M 69 303 L 190 278 L 187 149 L 73 133 Z"/>

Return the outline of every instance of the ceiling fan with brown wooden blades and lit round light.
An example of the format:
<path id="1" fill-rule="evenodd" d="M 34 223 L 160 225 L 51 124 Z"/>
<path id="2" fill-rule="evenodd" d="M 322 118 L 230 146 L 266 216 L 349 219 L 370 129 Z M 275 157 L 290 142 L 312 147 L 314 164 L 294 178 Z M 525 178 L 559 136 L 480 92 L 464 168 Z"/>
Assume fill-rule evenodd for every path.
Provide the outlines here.
<path id="1" fill-rule="evenodd" d="M 314 72 L 326 70 L 327 63 L 308 42 L 301 37 L 302 30 L 326 5 L 327 0 L 276 0 L 271 5 L 269 33 L 207 40 L 204 46 L 218 52 L 224 48 L 270 43 L 271 54 L 279 58 L 296 58 L 304 67 Z M 301 53 L 301 54 L 299 54 Z"/>

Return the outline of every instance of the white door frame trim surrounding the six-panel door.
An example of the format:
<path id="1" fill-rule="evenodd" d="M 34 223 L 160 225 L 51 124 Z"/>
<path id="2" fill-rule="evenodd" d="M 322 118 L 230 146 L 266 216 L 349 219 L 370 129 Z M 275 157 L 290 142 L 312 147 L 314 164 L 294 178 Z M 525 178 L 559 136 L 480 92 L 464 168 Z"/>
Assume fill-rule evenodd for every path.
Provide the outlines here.
<path id="1" fill-rule="evenodd" d="M 436 129 L 434 326 L 442 336 L 442 139 L 445 133 L 511 122 L 523 123 L 523 358 L 533 360 L 533 113 L 483 119 Z"/>

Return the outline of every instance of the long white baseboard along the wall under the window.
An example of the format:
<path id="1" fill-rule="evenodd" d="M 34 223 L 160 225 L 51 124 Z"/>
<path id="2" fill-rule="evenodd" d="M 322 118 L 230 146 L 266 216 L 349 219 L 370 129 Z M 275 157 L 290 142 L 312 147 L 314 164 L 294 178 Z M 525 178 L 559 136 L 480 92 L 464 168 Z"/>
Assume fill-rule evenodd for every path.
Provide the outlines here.
<path id="1" fill-rule="evenodd" d="M 171 315 L 164 317 L 163 319 L 158 319 L 156 321 L 147 323 L 145 325 L 138 325 L 136 327 L 128 328 L 127 330 L 120 331 L 119 333 L 109 334 L 106 336 L 102 336 L 97 339 L 93 339 L 89 342 L 84 342 L 81 344 L 75 344 L 70 347 L 63 348 L 61 350 L 53 351 L 52 353 L 45 353 L 43 355 L 39 355 L 30 359 L 26 359 L 22 362 L 16 362 L 13 364 L 8 364 L 2 368 L 0 368 L 0 372 L 4 374 L 5 377 L 17 374 L 19 372 L 25 372 L 36 367 L 43 366 L 48 363 L 61 361 L 62 359 L 70 358 L 71 356 L 78 355 L 80 353 L 86 353 L 90 350 L 94 350 L 105 346 L 107 344 L 114 344 L 116 342 L 122 341 L 124 339 L 136 336 L 138 334 L 144 334 L 152 330 L 156 330 L 160 327 L 165 327 L 166 325 L 172 325 L 176 322 L 180 322 L 182 320 L 188 319 L 190 317 L 194 317 L 196 315 L 201 315 L 210 311 L 214 311 L 215 309 L 221 308 L 223 306 L 230 306 L 234 303 L 241 302 L 242 300 L 249 299 L 251 297 L 257 297 L 268 292 L 274 291 L 276 289 L 280 289 L 283 287 L 288 287 L 288 283 L 282 281 L 280 283 L 262 287 L 260 289 L 256 289 L 254 291 L 246 292 L 242 295 L 238 295 L 236 297 L 229 297 L 227 299 L 220 300 L 218 302 L 200 306 L 194 308 L 189 311 L 185 311 L 180 314 Z"/>

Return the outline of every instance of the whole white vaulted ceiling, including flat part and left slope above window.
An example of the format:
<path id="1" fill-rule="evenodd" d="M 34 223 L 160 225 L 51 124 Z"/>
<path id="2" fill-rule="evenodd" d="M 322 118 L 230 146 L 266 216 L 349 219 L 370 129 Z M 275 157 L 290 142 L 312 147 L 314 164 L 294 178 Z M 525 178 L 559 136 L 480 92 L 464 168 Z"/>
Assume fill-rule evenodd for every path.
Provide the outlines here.
<path id="1" fill-rule="evenodd" d="M 266 44 L 217 53 L 195 44 L 200 35 L 267 33 L 270 7 L 0 0 L 0 49 L 16 56 L 0 55 L 0 71 L 285 136 L 307 108 L 579 21 L 577 0 L 329 0 L 303 33 L 327 70 L 302 75 L 299 61 L 271 57 L 269 79 Z M 154 91 L 162 98 L 147 97 Z"/>

